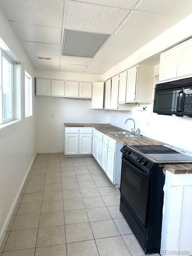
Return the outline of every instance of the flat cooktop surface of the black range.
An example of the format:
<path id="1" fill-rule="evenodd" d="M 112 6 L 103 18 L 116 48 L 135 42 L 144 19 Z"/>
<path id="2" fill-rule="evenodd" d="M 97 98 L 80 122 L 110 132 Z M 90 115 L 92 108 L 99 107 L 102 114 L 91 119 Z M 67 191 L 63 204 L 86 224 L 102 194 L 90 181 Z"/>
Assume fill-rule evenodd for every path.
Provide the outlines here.
<path id="1" fill-rule="evenodd" d="M 162 145 L 128 146 L 158 163 L 192 162 L 192 157 Z"/>

